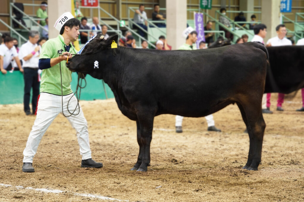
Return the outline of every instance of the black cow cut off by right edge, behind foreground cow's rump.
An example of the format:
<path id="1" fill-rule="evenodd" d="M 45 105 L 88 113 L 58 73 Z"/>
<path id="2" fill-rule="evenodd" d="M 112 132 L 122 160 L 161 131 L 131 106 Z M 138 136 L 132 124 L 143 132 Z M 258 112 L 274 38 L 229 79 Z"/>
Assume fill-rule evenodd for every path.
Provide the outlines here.
<path id="1" fill-rule="evenodd" d="M 270 67 L 265 93 L 288 94 L 304 88 L 304 46 L 273 46 L 267 50 Z"/>

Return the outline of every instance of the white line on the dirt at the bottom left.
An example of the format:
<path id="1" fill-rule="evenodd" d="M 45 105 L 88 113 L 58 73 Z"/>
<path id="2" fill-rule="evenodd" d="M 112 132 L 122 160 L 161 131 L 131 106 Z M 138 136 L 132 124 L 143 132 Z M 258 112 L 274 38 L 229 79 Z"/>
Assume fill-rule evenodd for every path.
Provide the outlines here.
<path id="1" fill-rule="evenodd" d="M 13 187 L 13 185 L 10 184 L 1 184 L 0 186 L 3 187 Z M 34 191 L 41 191 L 41 192 L 45 192 L 45 193 L 53 193 L 53 194 L 60 194 L 60 193 L 65 193 L 65 191 L 62 190 L 58 190 L 58 189 L 40 189 L 40 188 L 33 188 L 33 187 L 22 187 L 22 186 L 15 186 L 17 189 L 29 189 L 29 190 L 34 190 Z M 74 193 L 74 192 L 70 192 L 67 191 L 67 193 L 71 193 L 74 194 L 75 196 L 81 196 L 81 197 L 90 197 L 90 198 L 96 198 L 96 199 L 101 199 L 101 200 L 117 200 L 117 201 L 122 201 L 116 198 L 109 198 L 109 197 L 104 197 L 104 196 L 99 196 L 96 194 L 80 194 L 80 193 Z M 125 200 L 128 201 L 128 200 Z"/>

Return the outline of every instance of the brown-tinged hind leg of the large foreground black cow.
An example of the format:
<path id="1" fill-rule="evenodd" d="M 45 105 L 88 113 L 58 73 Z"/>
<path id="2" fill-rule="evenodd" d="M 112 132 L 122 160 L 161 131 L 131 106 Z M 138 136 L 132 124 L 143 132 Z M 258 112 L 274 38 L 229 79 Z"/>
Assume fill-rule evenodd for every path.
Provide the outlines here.
<path id="1" fill-rule="evenodd" d="M 247 170 L 257 171 L 257 167 L 261 162 L 262 143 L 265 131 L 265 121 L 263 119 L 261 105 L 258 102 L 250 101 L 239 103 L 243 120 L 247 126 L 249 134 L 249 153 L 246 165 L 243 167 Z"/>

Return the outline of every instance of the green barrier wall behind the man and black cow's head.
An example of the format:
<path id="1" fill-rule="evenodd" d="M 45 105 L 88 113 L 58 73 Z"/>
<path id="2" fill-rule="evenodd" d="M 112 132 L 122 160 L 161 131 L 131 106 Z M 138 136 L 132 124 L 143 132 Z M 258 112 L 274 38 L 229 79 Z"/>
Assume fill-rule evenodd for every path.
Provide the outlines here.
<path id="1" fill-rule="evenodd" d="M 73 92 L 76 90 L 78 75 L 72 73 L 71 87 Z M 90 75 L 85 77 L 87 86 L 81 89 L 81 100 L 106 99 L 105 91 L 108 98 L 114 98 L 114 94 L 107 84 L 105 91 L 102 80 L 95 79 Z M 84 84 L 84 80 L 82 81 Z M 0 104 L 20 104 L 23 103 L 24 81 L 20 71 L 8 72 L 6 75 L 0 73 Z M 31 93 L 32 95 L 32 93 Z"/>

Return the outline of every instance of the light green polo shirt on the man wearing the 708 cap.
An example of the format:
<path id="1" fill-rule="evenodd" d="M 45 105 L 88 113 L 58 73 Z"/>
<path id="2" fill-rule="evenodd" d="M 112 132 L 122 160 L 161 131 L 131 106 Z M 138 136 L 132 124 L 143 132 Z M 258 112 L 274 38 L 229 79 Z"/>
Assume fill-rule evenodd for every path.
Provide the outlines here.
<path id="1" fill-rule="evenodd" d="M 58 35 L 57 38 L 48 40 L 42 45 L 41 54 L 39 59 L 47 58 L 57 58 L 58 51 L 61 50 L 62 53 L 66 52 L 64 48 L 64 38 L 62 35 Z M 76 54 L 72 43 L 70 43 L 71 54 Z M 72 72 L 66 67 L 66 61 L 61 61 L 57 65 L 51 68 L 43 69 L 41 75 L 40 92 L 51 93 L 55 95 L 61 95 L 61 80 L 60 80 L 60 66 L 61 64 L 61 75 L 62 75 L 62 90 L 63 95 L 71 94 L 73 91 L 71 89 Z"/>

